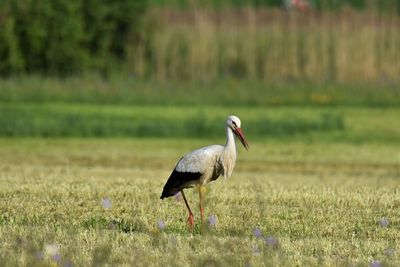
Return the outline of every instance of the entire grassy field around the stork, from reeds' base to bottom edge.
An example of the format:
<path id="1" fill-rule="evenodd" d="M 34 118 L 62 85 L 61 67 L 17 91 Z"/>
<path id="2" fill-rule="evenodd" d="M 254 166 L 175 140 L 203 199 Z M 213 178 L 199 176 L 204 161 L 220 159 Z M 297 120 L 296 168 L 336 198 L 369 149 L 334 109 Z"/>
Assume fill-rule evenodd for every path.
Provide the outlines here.
<path id="1" fill-rule="evenodd" d="M 396 84 L 0 87 L 0 266 L 400 265 Z M 184 153 L 224 142 L 228 114 L 250 151 L 207 187 L 205 233 L 187 191 L 191 233 L 161 190 Z"/>

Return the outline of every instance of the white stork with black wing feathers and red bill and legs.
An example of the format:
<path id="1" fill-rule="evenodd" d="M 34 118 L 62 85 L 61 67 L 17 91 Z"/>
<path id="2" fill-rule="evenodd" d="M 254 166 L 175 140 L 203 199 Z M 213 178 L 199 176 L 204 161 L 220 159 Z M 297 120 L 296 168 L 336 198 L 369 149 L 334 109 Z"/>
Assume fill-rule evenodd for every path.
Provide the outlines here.
<path id="1" fill-rule="evenodd" d="M 225 145 L 211 145 L 189 152 L 178 161 L 167 183 L 164 185 L 160 197 L 161 199 L 174 196 L 181 192 L 189 211 L 188 224 L 191 229 L 193 229 L 194 226 L 194 216 L 185 194 L 183 193 L 183 189 L 197 187 L 200 198 L 201 223 L 202 229 L 204 229 L 204 186 L 216 180 L 221 175 L 224 176 L 225 179 L 231 176 L 237 156 L 234 134 L 247 150 L 249 148 L 240 125 L 241 122 L 237 116 L 229 116 L 225 124 Z"/>

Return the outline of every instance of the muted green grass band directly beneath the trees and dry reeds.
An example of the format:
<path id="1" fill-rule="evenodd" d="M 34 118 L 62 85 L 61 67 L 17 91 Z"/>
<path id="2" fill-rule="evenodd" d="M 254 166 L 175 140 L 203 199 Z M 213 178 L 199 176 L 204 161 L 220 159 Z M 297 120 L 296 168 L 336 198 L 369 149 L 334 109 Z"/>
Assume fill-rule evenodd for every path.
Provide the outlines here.
<path id="1" fill-rule="evenodd" d="M 400 84 L 377 82 L 272 82 L 218 78 L 210 82 L 141 80 L 114 74 L 68 79 L 0 79 L 2 103 L 87 103 L 166 106 L 400 106 Z"/>

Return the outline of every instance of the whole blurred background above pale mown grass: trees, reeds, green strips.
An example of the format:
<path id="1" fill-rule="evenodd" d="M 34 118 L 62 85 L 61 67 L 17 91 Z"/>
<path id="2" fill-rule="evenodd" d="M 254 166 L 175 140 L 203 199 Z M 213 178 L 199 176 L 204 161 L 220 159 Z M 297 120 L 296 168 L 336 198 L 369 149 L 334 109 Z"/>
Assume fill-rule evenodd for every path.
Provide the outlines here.
<path id="1" fill-rule="evenodd" d="M 400 0 L 3 0 L 0 136 L 400 140 Z"/>

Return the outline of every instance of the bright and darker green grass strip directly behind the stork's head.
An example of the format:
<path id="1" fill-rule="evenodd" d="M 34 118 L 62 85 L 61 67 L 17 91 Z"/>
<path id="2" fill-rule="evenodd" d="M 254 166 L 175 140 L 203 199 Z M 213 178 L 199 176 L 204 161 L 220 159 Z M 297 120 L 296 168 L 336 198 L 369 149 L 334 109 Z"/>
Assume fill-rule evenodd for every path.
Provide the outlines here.
<path id="1" fill-rule="evenodd" d="M 254 140 L 400 141 L 400 109 L 367 107 L 124 106 L 3 103 L 0 136 L 225 138 L 237 114 Z"/>

